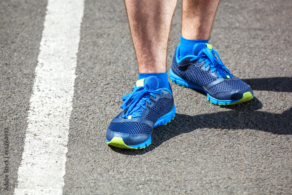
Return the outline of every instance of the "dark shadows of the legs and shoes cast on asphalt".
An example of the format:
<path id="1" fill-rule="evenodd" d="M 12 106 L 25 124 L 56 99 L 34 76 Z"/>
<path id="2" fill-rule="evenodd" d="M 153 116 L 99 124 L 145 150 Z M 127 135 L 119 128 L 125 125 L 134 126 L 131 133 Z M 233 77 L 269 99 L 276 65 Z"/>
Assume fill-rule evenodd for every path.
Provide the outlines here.
<path id="1" fill-rule="evenodd" d="M 292 78 L 289 77 L 246 79 L 243 81 L 249 84 L 253 90 L 262 91 L 291 92 L 292 86 Z M 114 146 L 110 146 L 110 148 L 125 155 L 140 155 L 152 151 L 163 142 L 177 135 L 195 130 L 205 131 L 205 128 L 211 128 L 211 131 L 213 130 L 214 132 L 218 129 L 226 131 L 252 129 L 273 134 L 292 134 L 292 107 L 282 114 L 257 111 L 263 105 L 256 97 L 241 104 L 221 107 L 229 108 L 231 111 L 194 116 L 176 114 L 174 120 L 168 125 L 154 128 L 151 135 L 152 144 L 145 149 L 128 150 Z"/>

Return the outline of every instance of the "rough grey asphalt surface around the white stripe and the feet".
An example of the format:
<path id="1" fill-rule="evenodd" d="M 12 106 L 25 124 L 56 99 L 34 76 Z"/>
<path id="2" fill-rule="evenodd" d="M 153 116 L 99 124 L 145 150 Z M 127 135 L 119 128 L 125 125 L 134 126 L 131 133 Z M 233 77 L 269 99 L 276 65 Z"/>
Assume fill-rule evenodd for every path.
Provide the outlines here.
<path id="1" fill-rule="evenodd" d="M 0 2 L 1 181 L 4 128 L 10 132 L 9 192 L 17 185 L 34 68 L 47 2 Z M 168 68 L 180 40 L 178 1 Z M 222 0 L 213 48 L 254 91 L 251 101 L 216 106 L 171 83 L 176 116 L 152 144 L 105 143 L 121 96 L 138 78 L 123 1 L 85 1 L 63 194 L 292 194 L 292 4 Z M 29 173 L 28 173 L 29 174 Z"/>

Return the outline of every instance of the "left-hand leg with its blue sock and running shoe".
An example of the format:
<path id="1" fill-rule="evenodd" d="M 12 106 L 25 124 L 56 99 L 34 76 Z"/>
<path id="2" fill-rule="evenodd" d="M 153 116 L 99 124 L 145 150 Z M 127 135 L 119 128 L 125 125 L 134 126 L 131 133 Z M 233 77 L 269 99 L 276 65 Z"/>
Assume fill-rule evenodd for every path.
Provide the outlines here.
<path id="1" fill-rule="evenodd" d="M 176 0 L 125 0 L 139 79 L 125 95 L 121 108 L 107 128 L 107 144 L 141 149 L 151 143 L 154 127 L 175 116 L 166 72 L 167 42 Z"/>

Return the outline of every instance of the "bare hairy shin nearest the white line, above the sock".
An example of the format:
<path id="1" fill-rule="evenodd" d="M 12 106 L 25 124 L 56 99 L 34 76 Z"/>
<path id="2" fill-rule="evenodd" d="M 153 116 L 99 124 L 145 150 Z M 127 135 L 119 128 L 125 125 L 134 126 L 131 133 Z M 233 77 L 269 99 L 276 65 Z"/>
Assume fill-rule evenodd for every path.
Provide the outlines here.
<path id="1" fill-rule="evenodd" d="M 125 0 L 140 73 L 165 73 L 176 0 Z"/>

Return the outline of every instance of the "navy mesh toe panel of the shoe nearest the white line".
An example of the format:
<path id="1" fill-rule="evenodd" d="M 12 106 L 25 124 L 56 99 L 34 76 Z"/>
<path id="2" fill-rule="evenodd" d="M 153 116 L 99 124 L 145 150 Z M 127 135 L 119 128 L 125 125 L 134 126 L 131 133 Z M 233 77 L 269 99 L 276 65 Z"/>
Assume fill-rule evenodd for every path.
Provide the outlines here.
<path id="1" fill-rule="evenodd" d="M 111 122 L 109 130 L 126 134 L 151 134 L 152 128 L 149 125 L 139 122 Z"/>

